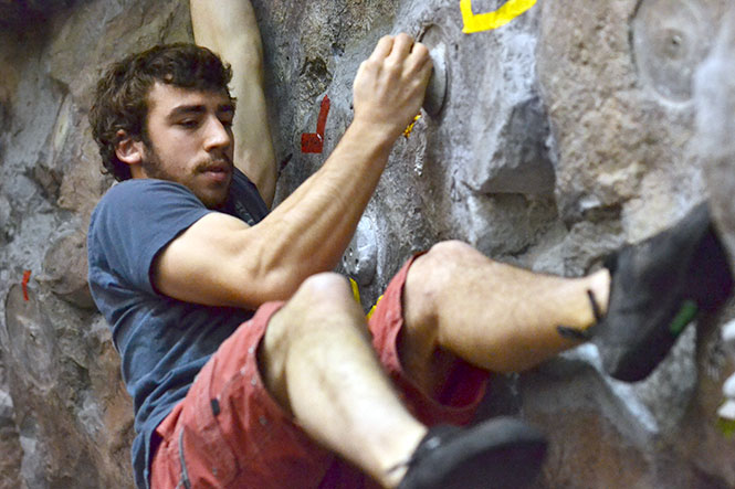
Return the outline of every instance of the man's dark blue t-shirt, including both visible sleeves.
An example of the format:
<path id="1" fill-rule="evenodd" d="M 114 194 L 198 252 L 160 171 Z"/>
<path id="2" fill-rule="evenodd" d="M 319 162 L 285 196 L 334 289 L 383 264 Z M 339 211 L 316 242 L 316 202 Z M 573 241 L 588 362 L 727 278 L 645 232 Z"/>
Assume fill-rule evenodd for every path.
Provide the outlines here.
<path id="1" fill-rule="evenodd" d="M 113 330 L 123 380 L 135 404 L 133 467 L 147 488 L 150 440 L 219 346 L 251 316 L 237 308 L 183 302 L 158 293 L 154 259 L 174 238 L 210 212 L 186 187 L 164 180 L 127 180 L 103 196 L 87 236 L 90 288 Z M 256 224 L 267 206 L 235 170 L 222 212 Z M 207 253 L 202 249 L 202 253 Z"/>

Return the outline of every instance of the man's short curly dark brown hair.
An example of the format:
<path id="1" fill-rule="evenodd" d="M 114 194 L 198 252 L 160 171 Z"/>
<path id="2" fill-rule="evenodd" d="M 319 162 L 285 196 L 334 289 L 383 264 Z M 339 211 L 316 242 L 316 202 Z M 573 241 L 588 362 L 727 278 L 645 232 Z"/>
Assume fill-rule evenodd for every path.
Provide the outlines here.
<path id="1" fill-rule="evenodd" d="M 177 43 L 154 46 L 114 63 L 97 82 L 90 110 L 92 136 L 99 146 L 105 169 L 116 180 L 130 178 L 130 168 L 115 153 L 127 137 L 149 145 L 146 130 L 148 93 L 156 82 L 206 92 L 224 92 L 232 79 L 230 65 L 210 50 Z"/>

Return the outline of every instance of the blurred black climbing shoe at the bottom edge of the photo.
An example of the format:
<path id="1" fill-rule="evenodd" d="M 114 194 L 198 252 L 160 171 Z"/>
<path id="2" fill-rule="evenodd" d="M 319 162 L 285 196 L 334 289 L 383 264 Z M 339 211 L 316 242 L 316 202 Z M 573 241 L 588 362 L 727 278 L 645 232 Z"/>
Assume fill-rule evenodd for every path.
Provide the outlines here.
<path id="1" fill-rule="evenodd" d="M 523 488 L 534 481 L 545 455 L 544 435 L 511 417 L 470 428 L 439 425 L 413 453 L 399 489 Z"/>

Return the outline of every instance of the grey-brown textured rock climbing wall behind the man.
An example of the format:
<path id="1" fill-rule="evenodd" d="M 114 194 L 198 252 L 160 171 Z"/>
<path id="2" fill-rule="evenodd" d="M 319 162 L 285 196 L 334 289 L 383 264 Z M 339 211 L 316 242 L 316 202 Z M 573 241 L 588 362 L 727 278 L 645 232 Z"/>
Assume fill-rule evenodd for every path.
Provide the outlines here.
<path id="1" fill-rule="evenodd" d="M 345 254 L 365 307 L 438 241 L 576 276 L 710 192 L 735 252 L 726 0 L 462 4 L 253 0 L 277 199 L 337 145 L 381 35 L 409 32 L 445 66 L 443 107 L 396 143 Z M 111 60 L 191 40 L 188 4 L 0 0 L 0 488 L 130 487 L 132 403 L 86 286 L 88 216 L 112 184 L 86 114 Z M 581 347 L 498 379 L 483 415 L 548 433 L 538 487 L 735 487 L 735 442 L 716 417 L 735 370 L 717 333 L 731 316 L 700 318 L 641 383 L 602 375 Z"/>

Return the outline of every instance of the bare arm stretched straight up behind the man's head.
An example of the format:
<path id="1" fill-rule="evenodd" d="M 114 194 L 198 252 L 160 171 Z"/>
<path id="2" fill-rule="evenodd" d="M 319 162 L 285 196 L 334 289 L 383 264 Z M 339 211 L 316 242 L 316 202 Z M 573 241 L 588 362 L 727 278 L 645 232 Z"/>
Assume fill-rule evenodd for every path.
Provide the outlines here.
<path id="1" fill-rule="evenodd" d="M 263 45 L 250 0 L 191 0 L 197 44 L 232 66 L 234 164 L 252 180 L 271 206 L 275 192 L 275 151 L 263 94 Z"/>

